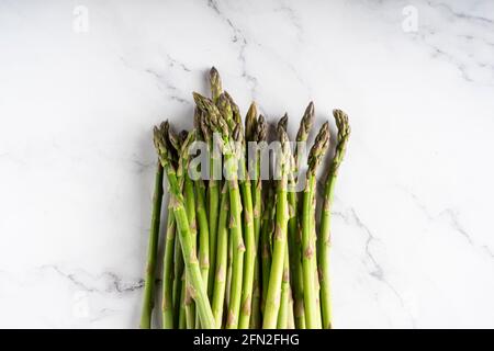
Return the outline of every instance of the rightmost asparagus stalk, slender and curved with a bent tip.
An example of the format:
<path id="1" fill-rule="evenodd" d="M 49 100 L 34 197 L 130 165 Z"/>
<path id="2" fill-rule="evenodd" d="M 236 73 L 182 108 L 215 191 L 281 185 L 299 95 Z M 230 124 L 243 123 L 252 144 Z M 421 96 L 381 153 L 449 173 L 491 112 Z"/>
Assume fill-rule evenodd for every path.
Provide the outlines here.
<path id="1" fill-rule="evenodd" d="M 334 110 L 333 115 L 338 128 L 338 139 L 333 162 L 326 178 L 324 190 L 323 213 L 321 217 L 319 233 L 319 276 L 321 276 L 321 305 L 323 312 L 323 328 L 332 328 L 332 306 L 330 306 L 330 284 L 329 284 L 329 249 L 330 249 L 330 216 L 333 194 L 335 190 L 336 178 L 338 177 L 339 166 L 346 154 L 348 138 L 350 136 L 350 125 L 348 116 L 340 110 Z"/>

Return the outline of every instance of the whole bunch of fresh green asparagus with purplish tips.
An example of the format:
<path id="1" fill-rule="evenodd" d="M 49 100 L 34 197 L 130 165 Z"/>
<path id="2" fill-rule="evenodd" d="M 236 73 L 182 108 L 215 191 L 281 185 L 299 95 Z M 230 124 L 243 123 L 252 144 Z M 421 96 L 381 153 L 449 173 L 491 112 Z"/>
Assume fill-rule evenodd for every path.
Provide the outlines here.
<path id="1" fill-rule="evenodd" d="M 210 83 L 211 98 L 193 93 L 191 131 L 176 134 L 168 121 L 154 128 L 158 161 L 141 327 L 150 328 L 157 299 L 166 179 L 169 200 L 162 230 L 164 328 L 330 329 L 330 211 L 350 134 L 348 116 L 340 110 L 333 111 L 337 140 L 325 171 L 323 203 L 316 207 L 317 168 L 330 145 L 328 122 L 310 149 L 305 179 L 297 176 L 304 156 L 301 146 L 314 123 L 313 103 L 301 120 L 294 148 L 287 134 L 287 114 L 278 122 L 277 172 L 265 179 L 261 155 L 269 127 L 265 117 L 258 115 L 252 102 L 244 125 L 238 106 L 223 90 L 214 67 Z M 210 167 L 201 166 L 200 172 L 209 177 L 191 176 L 190 150 L 195 141 L 207 147 Z M 254 158 L 247 157 L 248 145 L 257 146 Z M 218 162 L 223 165 L 220 171 Z M 268 167 L 273 168 L 272 163 L 268 162 Z M 296 191 L 299 181 L 304 184 L 301 192 Z M 319 214 L 316 208 L 321 208 Z"/>

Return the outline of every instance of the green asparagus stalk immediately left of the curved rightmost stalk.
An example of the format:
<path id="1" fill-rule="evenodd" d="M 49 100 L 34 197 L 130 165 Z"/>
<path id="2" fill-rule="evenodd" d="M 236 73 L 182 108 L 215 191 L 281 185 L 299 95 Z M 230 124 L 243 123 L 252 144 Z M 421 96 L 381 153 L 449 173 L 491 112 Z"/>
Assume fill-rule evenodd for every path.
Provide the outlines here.
<path id="1" fill-rule="evenodd" d="M 313 214 L 313 199 L 315 196 L 315 181 L 316 169 L 321 163 L 322 157 L 327 150 L 329 145 L 329 125 L 326 122 L 316 136 L 314 145 L 308 155 L 308 168 L 306 172 L 306 184 L 303 195 L 303 210 L 302 210 L 302 268 L 303 268 L 303 288 L 304 288 L 304 312 L 305 312 L 305 326 L 308 329 L 321 328 L 321 322 L 317 319 L 316 305 L 316 286 L 314 280 L 314 271 L 316 269 L 315 262 L 315 242 L 311 226 L 314 218 Z"/>

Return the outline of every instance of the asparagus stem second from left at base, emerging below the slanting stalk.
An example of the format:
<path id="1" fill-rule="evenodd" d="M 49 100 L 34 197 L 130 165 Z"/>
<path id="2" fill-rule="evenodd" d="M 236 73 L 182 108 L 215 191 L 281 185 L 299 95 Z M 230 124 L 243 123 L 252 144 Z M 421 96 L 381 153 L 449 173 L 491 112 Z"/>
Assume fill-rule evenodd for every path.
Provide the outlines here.
<path id="1" fill-rule="evenodd" d="M 172 329 L 175 327 L 173 319 L 173 251 L 175 251 L 175 218 L 168 205 L 168 219 L 167 219 L 167 237 L 164 254 L 164 269 L 162 269 L 162 328 Z"/>

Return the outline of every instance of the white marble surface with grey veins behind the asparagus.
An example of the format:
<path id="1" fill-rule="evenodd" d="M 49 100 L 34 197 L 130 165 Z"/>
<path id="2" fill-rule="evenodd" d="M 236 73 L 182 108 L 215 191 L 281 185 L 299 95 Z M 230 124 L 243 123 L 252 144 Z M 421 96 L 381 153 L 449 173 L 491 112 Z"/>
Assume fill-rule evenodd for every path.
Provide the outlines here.
<path id="1" fill-rule="evenodd" d="M 0 327 L 138 325 L 151 126 L 211 65 L 292 132 L 350 115 L 335 327 L 494 327 L 489 0 L 0 0 Z"/>

